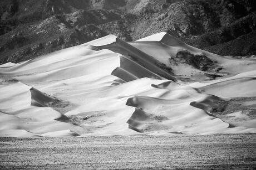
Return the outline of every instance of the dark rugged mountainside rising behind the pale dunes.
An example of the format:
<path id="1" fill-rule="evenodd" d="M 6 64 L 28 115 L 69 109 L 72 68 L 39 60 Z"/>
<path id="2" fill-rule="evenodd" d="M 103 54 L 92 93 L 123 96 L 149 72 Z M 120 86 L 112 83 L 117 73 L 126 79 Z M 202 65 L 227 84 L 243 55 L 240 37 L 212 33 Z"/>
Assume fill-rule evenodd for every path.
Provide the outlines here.
<path id="1" fill-rule="evenodd" d="M 2 0 L 0 64 L 114 34 L 168 32 L 220 55 L 256 53 L 254 0 Z"/>

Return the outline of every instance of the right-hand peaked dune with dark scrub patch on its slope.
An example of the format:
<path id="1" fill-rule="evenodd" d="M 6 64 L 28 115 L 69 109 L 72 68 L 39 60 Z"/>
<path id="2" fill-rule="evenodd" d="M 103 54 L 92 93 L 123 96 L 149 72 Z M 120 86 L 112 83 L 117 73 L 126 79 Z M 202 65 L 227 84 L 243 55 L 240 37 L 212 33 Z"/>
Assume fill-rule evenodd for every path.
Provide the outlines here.
<path id="1" fill-rule="evenodd" d="M 191 47 L 165 32 L 139 39 L 136 42 L 129 42 L 129 44 L 140 49 L 147 55 L 153 56 L 153 58 L 159 60 L 161 63 L 170 66 L 174 74 L 183 75 L 185 78 L 189 78 L 194 81 L 205 80 L 207 77 L 204 73 L 214 72 L 214 74 L 226 77 L 246 71 L 252 71 L 256 68 L 256 63 L 253 58 L 237 59 L 232 56 L 224 57 L 209 53 L 208 51 Z M 198 70 L 198 68 L 193 66 L 193 63 L 191 65 L 189 63 L 181 62 L 182 59 L 179 59 L 177 54 L 182 51 L 188 51 L 190 54 L 199 55 L 199 58 L 200 55 L 206 56 L 213 61 L 213 68 L 208 66 L 208 70 Z M 218 70 L 218 73 L 216 73 L 216 69 L 218 68 L 221 70 Z"/>

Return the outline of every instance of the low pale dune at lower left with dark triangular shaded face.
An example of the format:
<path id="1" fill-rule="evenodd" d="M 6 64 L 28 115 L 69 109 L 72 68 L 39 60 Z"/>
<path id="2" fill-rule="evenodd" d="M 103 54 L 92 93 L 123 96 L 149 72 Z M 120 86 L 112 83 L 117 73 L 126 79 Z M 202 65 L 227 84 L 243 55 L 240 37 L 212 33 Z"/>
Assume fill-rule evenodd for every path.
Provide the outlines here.
<path id="1" fill-rule="evenodd" d="M 33 87 L 18 82 L 0 87 L 0 90 L 0 136 L 41 137 L 50 131 L 81 130 L 68 123 L 67 116 L 46 106 L 56 99 Z M 73 135 L 63 132 L 61 136 Z"/>

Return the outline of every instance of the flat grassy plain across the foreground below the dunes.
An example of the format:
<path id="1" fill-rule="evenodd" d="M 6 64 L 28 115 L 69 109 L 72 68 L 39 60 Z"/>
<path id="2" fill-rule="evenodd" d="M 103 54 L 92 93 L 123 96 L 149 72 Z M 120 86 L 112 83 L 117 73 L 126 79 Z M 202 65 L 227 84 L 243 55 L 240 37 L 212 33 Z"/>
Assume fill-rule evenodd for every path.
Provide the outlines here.
<path id="1" fill-rule="evenodd" d="M 255 169 L 256 134 L 0 138 L 0 169 Z"/>

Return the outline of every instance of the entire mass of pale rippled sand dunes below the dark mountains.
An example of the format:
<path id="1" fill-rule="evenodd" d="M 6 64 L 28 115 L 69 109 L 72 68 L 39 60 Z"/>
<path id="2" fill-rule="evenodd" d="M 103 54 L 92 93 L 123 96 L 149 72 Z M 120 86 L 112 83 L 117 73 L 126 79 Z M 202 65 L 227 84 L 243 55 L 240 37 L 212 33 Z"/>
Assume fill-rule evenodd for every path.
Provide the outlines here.
<path id="1" fill-rule="evenodd" d="M 204 83 L 176 83 L 178 70 L 168 72 L 159 63 L 180 49 L 207 53 L 166 33 L 130 44 L 108 35 L 1 65 L 0 136 L 255 133 L 255 126 L 232 127 L 209 112 L 220 97 L 256 96 L 255 71 Z M 231 60 L 251 63 L 248 70 L 255 64 L 208 56 L 227 70 Z"/>

